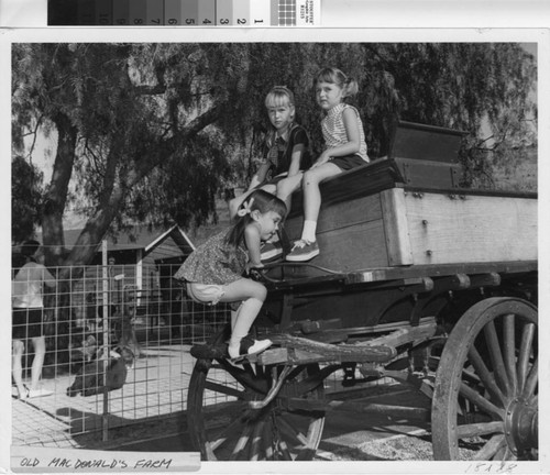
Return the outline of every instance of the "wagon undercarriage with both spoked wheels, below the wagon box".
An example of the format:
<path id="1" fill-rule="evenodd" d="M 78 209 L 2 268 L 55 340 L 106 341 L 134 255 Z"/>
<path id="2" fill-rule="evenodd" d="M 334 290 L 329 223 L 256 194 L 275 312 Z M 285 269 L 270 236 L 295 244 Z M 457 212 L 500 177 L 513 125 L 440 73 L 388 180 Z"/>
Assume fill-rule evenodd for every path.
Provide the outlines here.
<path id="1" fill-rule="evenodd" d="M 304 310 L 311 292 L 317 301 L 323 286 L 274 284 L 275 303 L 285 310 L 278 322 L 257 328 L 274 346 L 240 365 L 216 353 L 197 362 L 189 402 L 197 448 L 208 460 L 310 460 L 324 415 L 343 410 L 360 415 L 366 426 L 369 415 L 380 413 L 431 420 L 436 460 L 537 459 L 537 311 L 527 300 L 536 297 L 532 266 L 507 264 L 499 270 L 382 283 L 330 276 L 323 295 L 331 288 L 343 295 L 346 287 L 351 295 L 384 289 L 400 297 L 381 292 L 377 300 L 410 301 L 407 321 L 386 321 L 394 314 L 391 305 L 373 306 L 378 314 L 362 309 L 362 321 L 380 322 L 367 327 L 346 327 L 354 321 L 350 314 L 300 320 L 295 306 Z M 453 314 L 451 307 L 462 313 Z M 218 335 L 208 349 L 222 347 L 226 338 Z M 221 383 L 212 372 L 227 373 L 229 380 Z M 431 399 L 431 410 L 328 398 L 323 384 L 334 373 L 343 374 L 350 389 L 374 379 L 398 382 Z M 212 395 L 232 399 L 222 406 L 221 420 L 217 406 L 207 402 Z"/>

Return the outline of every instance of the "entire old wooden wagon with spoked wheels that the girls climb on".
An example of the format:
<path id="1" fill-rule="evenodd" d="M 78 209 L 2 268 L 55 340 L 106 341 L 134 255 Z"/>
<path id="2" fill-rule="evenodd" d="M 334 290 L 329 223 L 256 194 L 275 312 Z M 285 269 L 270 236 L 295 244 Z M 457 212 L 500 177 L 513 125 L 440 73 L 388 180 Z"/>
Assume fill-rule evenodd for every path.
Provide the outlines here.
<path id="1" fill-rule="evenodd" d="M 233 365 L 216 353 L 226 332 L 196 362 L 187 413 L 205 460 L 310 460 L 329 410 L 422 416 L 326 397 L 342 372 L 431 398 L 436 460 L 537 460 L 536 195 L 461 189 L 460 139 L 402 123 L 389 157 L 321 186 L 321 254 L 266 274 L 254 331 L 275 345 Z"/>

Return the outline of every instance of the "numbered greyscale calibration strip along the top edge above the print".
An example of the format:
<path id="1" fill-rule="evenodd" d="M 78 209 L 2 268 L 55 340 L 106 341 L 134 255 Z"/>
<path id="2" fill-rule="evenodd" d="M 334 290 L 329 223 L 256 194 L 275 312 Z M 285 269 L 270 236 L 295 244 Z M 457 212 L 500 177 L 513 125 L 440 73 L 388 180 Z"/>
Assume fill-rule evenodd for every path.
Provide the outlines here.
<path id="1" fill-rule="evenodd" d="M 48 0 L 48 26 L 317 26 L 321 0 Z"/>

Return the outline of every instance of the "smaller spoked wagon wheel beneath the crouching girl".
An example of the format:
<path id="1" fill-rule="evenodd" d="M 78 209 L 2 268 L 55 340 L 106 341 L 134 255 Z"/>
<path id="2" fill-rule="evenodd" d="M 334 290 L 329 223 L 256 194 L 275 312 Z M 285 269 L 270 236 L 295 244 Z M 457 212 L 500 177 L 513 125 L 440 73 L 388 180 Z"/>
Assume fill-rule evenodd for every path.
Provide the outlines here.
<path id="1" fill-rule="evenodd" d="M 223 334 L 216 342 L 224 340 Z M 244 364 L 227 360 L 197 360 L 188 390 L 187 420 L 191 442 L 208 461 L 311 460 L 321 440 L 322 411 L 292 411 L 275 397 L 266 407 L 252 409 L 250 401 L 263 400 L 283 367 Z M 322 399 L 322 382 L 315 384 L 317 364 L 285 371 L 279 395 Z M 314 380 L 300 385 L 300 382 Z"/>

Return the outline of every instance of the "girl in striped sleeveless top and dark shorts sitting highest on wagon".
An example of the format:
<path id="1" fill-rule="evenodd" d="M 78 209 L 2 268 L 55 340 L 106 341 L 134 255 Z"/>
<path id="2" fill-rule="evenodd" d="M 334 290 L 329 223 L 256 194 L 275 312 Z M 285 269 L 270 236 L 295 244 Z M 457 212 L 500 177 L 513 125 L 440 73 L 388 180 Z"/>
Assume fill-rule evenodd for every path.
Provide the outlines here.
<path id="1" fill-rule="evenodd" d="M 301 239 L 286 256 L 290 262 L 309 261 L 319 254 L 316 238 L 321 207 L 319 184 L 369 162 L 359 111 L 344 102 L 358 93 L 358 82 L 340 69 L 324 68 L 317 75 L 315 86 L 317 103 L 324 112 L 321 129 L 326 148 L 304 174 L 304 228 Z"/>

